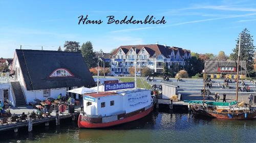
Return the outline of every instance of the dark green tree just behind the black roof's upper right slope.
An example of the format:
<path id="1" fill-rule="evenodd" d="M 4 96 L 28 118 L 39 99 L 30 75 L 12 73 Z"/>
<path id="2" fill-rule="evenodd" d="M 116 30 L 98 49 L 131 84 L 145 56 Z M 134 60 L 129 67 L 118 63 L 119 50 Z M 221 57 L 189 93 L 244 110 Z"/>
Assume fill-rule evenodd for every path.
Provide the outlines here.
<path id="1" fill-rule="evenodd" d="M 91 41 L 82 43 L 81 53 L 84 61 L 86 62 L 89 68 L 97 66 L 98 58 L 95 58 L 95 52 L 93 51 L 93 45 Z"/>

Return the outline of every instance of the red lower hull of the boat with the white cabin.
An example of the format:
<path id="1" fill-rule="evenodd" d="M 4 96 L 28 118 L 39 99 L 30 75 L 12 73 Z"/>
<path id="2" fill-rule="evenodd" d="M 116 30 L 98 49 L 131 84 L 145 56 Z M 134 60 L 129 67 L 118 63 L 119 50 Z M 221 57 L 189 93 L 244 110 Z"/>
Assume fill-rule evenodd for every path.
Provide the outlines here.
<path id="1" fill-rule="evenodd" d="M 106 127 L 111 127 L 111 126 L 116 126 L 119 124 L 123 124 L 123 123 L 127 123 L 127 122 L 132 122 L 138 119 L 141 119 L 145 116 L 147 116 L 152 110 L 154 109 L 154 106 L 141 111 L 139 113 L 137 113 L 136 115 L 130 116 L 130 117 L 126 117 L 123 119 L 119 119 L 113 122 L 108 122 L 108 123 L 90 123 L 90 122 L 84 122 L 81 120 L 82 115 L 79 115 L 78 118 L 78 127 L 79 128 L 106 128 Z"/>

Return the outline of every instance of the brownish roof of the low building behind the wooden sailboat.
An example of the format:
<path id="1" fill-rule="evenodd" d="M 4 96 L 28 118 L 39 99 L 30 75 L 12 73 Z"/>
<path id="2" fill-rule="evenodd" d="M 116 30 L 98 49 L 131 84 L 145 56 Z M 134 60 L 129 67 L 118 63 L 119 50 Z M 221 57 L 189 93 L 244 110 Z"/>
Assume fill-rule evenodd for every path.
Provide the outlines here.
<path id="1" fill-rule="evenodd" d="M 219 67 L 237 67 L 236 61 L 205 61 L 205 73 L 207 74 L 217 74 L 221 73 L 218 71 Z M 246 61 L 239 62 L 239 74 L 246 74 Z M 225 74 L 234 74 L 236 72 L 224 72 Z"/>

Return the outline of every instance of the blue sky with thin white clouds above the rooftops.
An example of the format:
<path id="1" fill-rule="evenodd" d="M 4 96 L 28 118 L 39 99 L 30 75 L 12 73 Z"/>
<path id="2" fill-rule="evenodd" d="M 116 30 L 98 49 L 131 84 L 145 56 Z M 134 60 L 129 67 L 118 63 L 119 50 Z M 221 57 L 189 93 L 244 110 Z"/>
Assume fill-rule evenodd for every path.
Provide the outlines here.
<path id="1" fill-rule="evenodd" d="M 102 24 L 78 25 L 78 16 Z M 106 16 L 143 20 L 165 17 L 166 24 L 106 24 Z M 57 50 L 67 40 L 91 41 L 109 52 L 120 45 L 166 44 L 193 52 L 229 54 L 246 27 L 256 36 L 256 1 L 3 1 L 0 0 L 0 57 L 14 50 Z M 255 37 L 254 37 L 255 38 Z M 254 42 L 254 45 L 255 42 Z"/>

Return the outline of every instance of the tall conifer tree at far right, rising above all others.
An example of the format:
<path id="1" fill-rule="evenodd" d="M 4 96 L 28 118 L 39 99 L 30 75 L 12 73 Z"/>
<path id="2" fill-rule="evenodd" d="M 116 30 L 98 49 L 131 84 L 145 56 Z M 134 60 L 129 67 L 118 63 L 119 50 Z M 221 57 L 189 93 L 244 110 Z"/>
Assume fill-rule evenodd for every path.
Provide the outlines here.
<path id="1" fill-rule="evenodd" d="M 246 61 L 246 68 L 248 71 L 248 74 L 253 76 L 254 75 L 254 70 L 253 70 L 253 56 L 255 52 L 255 46 L 253 45 L 253 36 L 250 35 L 249 31 L 247 28 L 245 28 L 242 33 L 241 33 L 241 49 L 240 49 L 240 57 L 241 60 Z M 238 49 L 239 49 L 239 37 L 236 40 L 237 45 L 236 48 L 233 49 L 233 53 L 230 54 L 230 59 L 231 60 L 236 60 L 238 59 Z"/>

